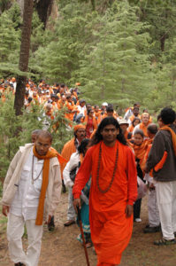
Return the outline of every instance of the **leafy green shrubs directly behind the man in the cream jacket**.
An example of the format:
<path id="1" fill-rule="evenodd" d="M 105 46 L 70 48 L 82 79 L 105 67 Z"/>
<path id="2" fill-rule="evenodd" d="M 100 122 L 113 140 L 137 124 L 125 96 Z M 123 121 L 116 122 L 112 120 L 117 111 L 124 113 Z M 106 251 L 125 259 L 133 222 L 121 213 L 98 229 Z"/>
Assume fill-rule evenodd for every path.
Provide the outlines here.
<path id="1" fill-rule="evenodd" d="M 4 180 L 7 168 L 17 153 L 19 146 L 31 142 L 31 133 L 34 129 L 46 129 L 52 133 L 52 145 L 60 153 L 65 142 L 73 137 L 70 129 L 70 121 L 65 119 L 65 109 L 58 111 L 53 121 L 47 119 L 43 113 L 43 107 L 32 105 L 30 109 L 23 110 L 23 115 L 16 116 L 13 109 L 13 96 L 6 94 L 3 103 L 0 100 L 0 193 L 2 190 L 1 180 Z"/>

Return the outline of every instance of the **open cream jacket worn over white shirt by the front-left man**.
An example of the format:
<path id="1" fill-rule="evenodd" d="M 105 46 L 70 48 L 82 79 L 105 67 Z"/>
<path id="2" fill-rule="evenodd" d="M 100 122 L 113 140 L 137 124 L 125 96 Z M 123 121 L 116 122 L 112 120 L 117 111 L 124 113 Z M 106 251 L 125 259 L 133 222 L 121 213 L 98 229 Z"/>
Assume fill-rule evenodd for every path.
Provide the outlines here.
<path id="1" fill-rule="evenodd" d="M 19 151 L 11 160 L 10 167 L 4 179 L 2 204 L 5 206 L 11 207 L 11 201 L 18 190 L 23 165 L 27 160 L 27 156 L 29 156 L 32 146 L 33 144 L 27 144 L 19 147 Z M 55 209 L 57 208 L 57 204 L 60 200 L 61 187 L 62 181 L 60 175 L 60 165 L 57 157 L 54 157 L 50 159 L 49 184 L 44 202 L 43 219 L 45 221 L 48 220 L 48 215 L 54 215 Z"/>

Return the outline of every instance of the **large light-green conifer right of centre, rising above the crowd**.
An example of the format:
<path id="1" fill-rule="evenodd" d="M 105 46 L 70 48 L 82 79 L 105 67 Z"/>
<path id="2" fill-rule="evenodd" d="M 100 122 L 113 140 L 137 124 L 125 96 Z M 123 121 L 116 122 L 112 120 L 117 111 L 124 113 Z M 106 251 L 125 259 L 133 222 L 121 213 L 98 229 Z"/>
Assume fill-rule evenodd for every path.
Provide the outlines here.
<path id="1" fill-rule="evenodd" d="M 87 98 L 120 107 L 125 107 L 128 99 L 142 101 L 144 90 L 151 86 L 149 55 L 143 52 L 149 35 L 136 34 L 144 27 L 137 19 L 135 9 L 125 2 L 113 4 L 99 20 L 94 31 L 96 43 L 87 59 L 81 61 L 79 71 Z"/>

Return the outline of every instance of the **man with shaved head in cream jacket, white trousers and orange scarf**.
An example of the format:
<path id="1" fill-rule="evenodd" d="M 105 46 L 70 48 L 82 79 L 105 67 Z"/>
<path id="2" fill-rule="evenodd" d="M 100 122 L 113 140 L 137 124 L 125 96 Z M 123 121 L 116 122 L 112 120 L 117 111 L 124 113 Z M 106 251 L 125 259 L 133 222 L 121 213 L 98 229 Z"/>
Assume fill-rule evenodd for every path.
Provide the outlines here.
<path id="1" fill-rule="evenodd" d="M 61 192 L 57 152 L 52 137 L 39 130 L 34 144 L 19 147 L 4 180 L 3 214 L 8 216 L 7 239 L 14 265 L 37 266 L 42 244 L 42 222 L 50 223 Z M 27 226 L 27 253 L 22 247 Z"/>

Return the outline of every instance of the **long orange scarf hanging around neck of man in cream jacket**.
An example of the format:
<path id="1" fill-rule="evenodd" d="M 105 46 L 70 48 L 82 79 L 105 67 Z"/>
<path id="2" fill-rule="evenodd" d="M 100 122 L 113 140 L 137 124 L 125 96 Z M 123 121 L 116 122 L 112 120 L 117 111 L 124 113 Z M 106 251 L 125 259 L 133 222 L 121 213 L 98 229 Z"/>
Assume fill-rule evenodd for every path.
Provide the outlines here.
<path id="1" fill-rule="evenodd" d="M 43 169 L 42 169 L 42 189 L 41 189 L 39 205 L 38 205 L 37 215 L 36 215 L 36 220 L 35 220 L 36 225 L 42 225 L 44 200 L 45 200 L 47 187 L 49 184 L 50 159 L 53 157 L 57 157 L 58 153 L 53 148 L 50 148 L 46 155 L 41 156 L 38 153 L 36 153 L 35 145 L 33 148 L 33 153 L 36 158 L 40 160 L 44 160 Z"/>

